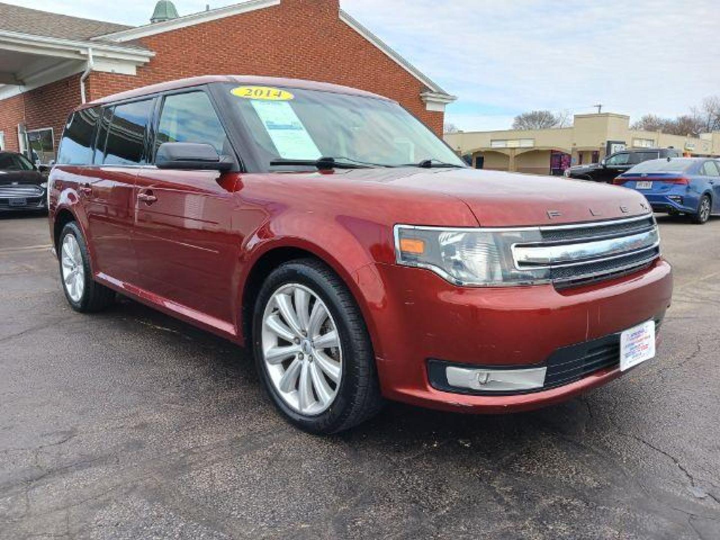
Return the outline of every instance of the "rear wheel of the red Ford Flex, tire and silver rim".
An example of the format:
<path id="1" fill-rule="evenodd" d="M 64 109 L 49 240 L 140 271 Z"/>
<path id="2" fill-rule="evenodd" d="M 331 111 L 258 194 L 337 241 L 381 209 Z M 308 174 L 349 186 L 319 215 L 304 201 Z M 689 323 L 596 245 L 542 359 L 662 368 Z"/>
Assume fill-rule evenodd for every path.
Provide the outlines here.
<path id="1" fill-rule="evenodd" d="M 60 232 L 58 240 L 60 282 L 68 304 L 80 313 L 104 310 L 115 300 L 115 292 L 92 277 L 90 256 L 83 233 L 74 221 Z"/>

